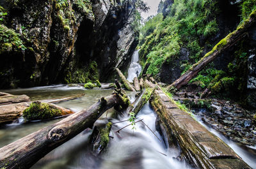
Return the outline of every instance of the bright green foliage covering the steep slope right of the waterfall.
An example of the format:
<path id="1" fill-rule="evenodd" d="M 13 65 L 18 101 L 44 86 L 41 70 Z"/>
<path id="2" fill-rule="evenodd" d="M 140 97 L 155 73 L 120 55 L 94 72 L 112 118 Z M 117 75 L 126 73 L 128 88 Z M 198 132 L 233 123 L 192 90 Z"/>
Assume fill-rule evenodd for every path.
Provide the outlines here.
<path id="1" fill-rule="evenodd" d="M 199 61 L 203 50 L 199 37 L 207 38 L 218 31 L 216 2 L 177 0 L 164 20 L 159 14 L 145 23 L 140 34 L 140 58 L 150 64 L 147 73 L 157 75 L 164 62 L 172 63 L 179 57 L 182 47 L 188 48 L 192 62 Z"/>

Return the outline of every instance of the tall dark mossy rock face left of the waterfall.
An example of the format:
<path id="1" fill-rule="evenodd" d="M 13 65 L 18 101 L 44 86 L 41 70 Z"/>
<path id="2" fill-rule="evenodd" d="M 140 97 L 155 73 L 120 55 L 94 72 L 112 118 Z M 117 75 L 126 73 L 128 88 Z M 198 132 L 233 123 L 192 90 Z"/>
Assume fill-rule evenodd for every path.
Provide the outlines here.
<path id="1" fill-rule="evenodd" d="M 20 39 L 0 30 L 8 42 L 0 42 L 0 88 L 107 80 L 114 68 L 124 70 L 136 46 L 135 1 L 20 0 L 4 8 L 1 26 Z"/>

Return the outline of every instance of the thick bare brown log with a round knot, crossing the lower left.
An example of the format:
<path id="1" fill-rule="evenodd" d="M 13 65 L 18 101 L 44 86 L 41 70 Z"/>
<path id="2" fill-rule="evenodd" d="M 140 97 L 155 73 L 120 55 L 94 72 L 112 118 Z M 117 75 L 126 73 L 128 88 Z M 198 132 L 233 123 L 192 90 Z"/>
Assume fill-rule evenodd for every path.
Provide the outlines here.
<path id="1" fill-rule="evenodd" d="M 116 93 L 100 100 L 88 110 L 72 114 L 60 122 L 20 138 L 0 149 L 0 168 L 29 168 L 45 154 L 67 142 L 93 123 L 106 110 L 124 104 Z"/>

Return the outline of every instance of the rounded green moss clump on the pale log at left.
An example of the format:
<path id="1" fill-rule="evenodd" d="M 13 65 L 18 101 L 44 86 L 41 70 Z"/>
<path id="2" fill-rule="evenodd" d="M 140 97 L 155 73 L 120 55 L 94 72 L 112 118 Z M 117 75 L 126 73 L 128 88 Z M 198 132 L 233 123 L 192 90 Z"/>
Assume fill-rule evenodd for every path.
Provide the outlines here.
<path id="1" fill-rule="evenodd" d="M 60 115 L 61 110 L 54 108 L 47 103 L 40 103 L 39 101 L 31 103 L 29 108 L 26 108 L 23 112 L 23 117 L 27 121 L 51 119 Z"/>

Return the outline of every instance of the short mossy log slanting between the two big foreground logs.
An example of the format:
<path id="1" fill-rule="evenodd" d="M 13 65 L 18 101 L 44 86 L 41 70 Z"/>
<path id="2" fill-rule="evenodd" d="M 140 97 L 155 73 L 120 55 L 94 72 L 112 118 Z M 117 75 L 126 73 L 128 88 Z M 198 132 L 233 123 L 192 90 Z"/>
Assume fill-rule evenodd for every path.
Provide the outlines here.
<path id="1" fill-rule="evenodd" d="M 133 112 L 135 115 L 138 114 L 138 112 L 140 112 L 141 108 L 148 102 L 148 100 L 150 99 L 150 96 L 152 95 L 152 93 L 154 92 L 154 88 L 147 88 L 145 89 L 140 98 L 138 99 L 138 101 L 136 101 L 136 104 L 134 105 L 134 107 L 132 108 L 131 112 Z"/>

